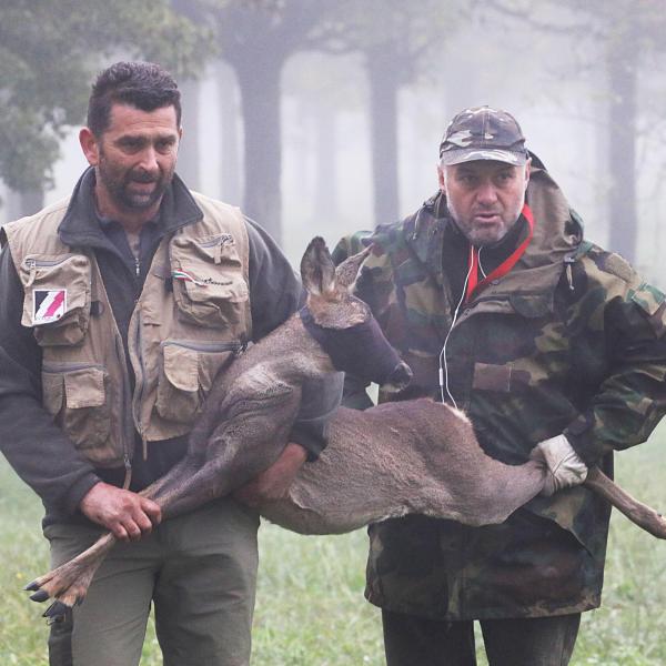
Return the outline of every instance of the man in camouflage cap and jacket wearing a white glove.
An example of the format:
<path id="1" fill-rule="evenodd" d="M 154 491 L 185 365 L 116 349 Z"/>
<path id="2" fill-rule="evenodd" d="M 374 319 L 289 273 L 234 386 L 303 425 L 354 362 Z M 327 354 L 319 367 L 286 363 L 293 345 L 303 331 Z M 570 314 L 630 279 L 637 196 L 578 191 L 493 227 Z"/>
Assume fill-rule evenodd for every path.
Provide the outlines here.
<path id="1" fill-rule="evenodd" d="M 612 473 L 613 451 L 644 442 L 665 412 L 665 296 L 583 240 L 508 113 L 454 118 L 440 183 L 334 259 L 372 241 L 357 293 L 412 366 L 412 391 L 463 408 L 505 463 L 538 445 L 551 496 L 502 525 L 372 526 L 366 596 L 383 609 L 390 666 L 475 664 L 474 619 L 492 665 L 566 664 L 581 612 L 601 603 L 609 518 L 578 484 L 591 465 Z M 347 384 L 347 404 L 367 406 Z"/>

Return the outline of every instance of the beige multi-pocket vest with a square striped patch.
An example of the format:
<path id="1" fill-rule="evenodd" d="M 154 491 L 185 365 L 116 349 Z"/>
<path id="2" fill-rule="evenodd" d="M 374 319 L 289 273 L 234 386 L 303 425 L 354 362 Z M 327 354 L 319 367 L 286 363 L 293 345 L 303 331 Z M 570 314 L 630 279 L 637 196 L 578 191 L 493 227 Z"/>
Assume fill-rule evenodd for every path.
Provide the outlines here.
<path id="1" fill-rule="evenodd" d="M 192 194 L 203 219 L 162 239 L 132 313 L 133 391 L 94 252 L 58 236 L 69 202 L 3 228 L 21 324 L 42 350 L 43 406 L 98 467 L 129 468 L 135 431 L 144 452 L 189 433 L 215 374 L 251 336 L 245 222 Z"/>

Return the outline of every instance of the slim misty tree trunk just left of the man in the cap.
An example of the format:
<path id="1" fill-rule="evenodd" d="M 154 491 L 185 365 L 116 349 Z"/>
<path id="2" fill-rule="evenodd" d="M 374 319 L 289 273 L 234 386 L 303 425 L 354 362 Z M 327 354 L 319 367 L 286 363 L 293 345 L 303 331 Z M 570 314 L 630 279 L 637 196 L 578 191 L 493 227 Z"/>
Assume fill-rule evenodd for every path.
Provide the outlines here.
<path id="1" fill-rule="evenodd" d="M 400 215 L 397 189 L 397 93 L 400 64 L 391 47 L 366 51 L 370 84 L 372 179 L 375 223 Z"/>

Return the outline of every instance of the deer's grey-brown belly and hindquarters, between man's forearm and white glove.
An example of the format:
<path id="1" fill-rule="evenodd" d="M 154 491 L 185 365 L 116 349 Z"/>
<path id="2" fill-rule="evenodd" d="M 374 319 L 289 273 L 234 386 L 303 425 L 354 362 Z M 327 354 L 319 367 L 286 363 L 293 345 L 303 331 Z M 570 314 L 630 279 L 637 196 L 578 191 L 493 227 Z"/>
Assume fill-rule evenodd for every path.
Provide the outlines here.
<path id="1" fill-rule="evenodd" d="M 339 534 L 420 513 L 468 525 L 503 522 L 542 490 L 543 465 L 487 456 L 458 411 L 431 400 L 340 407 L 329 446 L 289 497 L 260 506 L 301 534 Z"/>

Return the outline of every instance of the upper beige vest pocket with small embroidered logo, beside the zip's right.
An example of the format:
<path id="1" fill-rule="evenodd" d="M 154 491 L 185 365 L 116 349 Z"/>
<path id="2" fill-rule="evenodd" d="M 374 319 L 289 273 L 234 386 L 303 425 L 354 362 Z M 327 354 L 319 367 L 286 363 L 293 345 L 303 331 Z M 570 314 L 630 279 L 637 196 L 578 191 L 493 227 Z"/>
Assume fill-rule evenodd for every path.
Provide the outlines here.
<path id="1" fill-rule="evenodd" d="M 243 323 L 248 284 L 231 234 L 171 242 L 173 296 L 183 321 L 206 327 Z"/>

